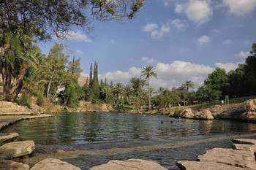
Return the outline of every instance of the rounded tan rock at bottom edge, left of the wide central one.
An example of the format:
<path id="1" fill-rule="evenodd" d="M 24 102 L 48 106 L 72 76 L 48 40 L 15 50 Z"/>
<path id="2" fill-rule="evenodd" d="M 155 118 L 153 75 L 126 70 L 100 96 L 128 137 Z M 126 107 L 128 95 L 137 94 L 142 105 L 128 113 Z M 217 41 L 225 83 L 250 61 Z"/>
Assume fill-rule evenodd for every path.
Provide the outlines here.
<path id="1" fill-rule="evenodd" d="M 80 170 L 77 166 L 61 161 L 59 159 L 48 158 L 35 164 L 30 170 Z"/>

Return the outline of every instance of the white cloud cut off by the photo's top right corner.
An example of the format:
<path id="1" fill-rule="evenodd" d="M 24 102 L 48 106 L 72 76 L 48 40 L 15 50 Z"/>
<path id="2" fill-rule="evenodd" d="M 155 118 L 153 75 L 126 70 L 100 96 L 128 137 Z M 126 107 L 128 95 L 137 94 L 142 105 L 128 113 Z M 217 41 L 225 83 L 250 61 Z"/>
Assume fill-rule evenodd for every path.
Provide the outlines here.
<path id="1" fill-rule="evenodd" d="M 244 15 L 256 8 L 255 0 L 223 0 L 223 2 L 229 8 L 229 12 L 236 15 Z"/>

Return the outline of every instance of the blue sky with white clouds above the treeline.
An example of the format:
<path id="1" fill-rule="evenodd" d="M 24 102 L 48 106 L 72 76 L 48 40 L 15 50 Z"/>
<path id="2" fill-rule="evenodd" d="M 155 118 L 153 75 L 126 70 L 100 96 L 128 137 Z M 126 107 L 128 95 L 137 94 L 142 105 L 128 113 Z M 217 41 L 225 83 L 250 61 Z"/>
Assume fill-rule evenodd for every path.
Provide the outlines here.
<path id="1" fill-rule="evenodd" d="M 89 34 L 74 28 L 67 40 L 40 43 L 48 55 L 63 42 L 80 58 L 81 73 L 98 63 L 99 80 L 127 85 L 153 66 L 158 79 L 151 88 L 178 88 L 191 80 L 196 88 L 216 67 L 227 72 L 244 63 L 256 42 L 256 0 L 146 0 L 143 10 L 126 23 L 92 23 Z"/>

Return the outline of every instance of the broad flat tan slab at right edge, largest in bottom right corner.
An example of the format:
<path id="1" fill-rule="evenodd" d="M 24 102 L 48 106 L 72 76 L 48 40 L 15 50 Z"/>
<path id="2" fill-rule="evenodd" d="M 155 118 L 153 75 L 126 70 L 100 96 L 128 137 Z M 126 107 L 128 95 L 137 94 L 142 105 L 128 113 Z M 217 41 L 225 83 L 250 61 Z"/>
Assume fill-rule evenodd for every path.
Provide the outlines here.
<path id="1" fill-rule="evenodd" d="M 204 155 L 199 155 L 197 161 L 211 161 L 245 169 L 256 169 L 255 155 L 248 150 L 214 148 L 207 150 Z"/>

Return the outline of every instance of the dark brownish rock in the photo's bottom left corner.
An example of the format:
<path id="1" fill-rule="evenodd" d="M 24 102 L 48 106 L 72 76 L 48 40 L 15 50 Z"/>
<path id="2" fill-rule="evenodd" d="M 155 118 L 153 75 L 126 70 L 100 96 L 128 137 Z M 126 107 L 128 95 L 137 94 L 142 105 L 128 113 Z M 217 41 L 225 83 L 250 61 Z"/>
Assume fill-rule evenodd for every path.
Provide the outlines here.
<path id="1" fill-rule="evenodd" d="M 0 161 L 1 170 L 29 170 L 29 165 L 18 163 L 15 161 L 1 160 Z"/>

